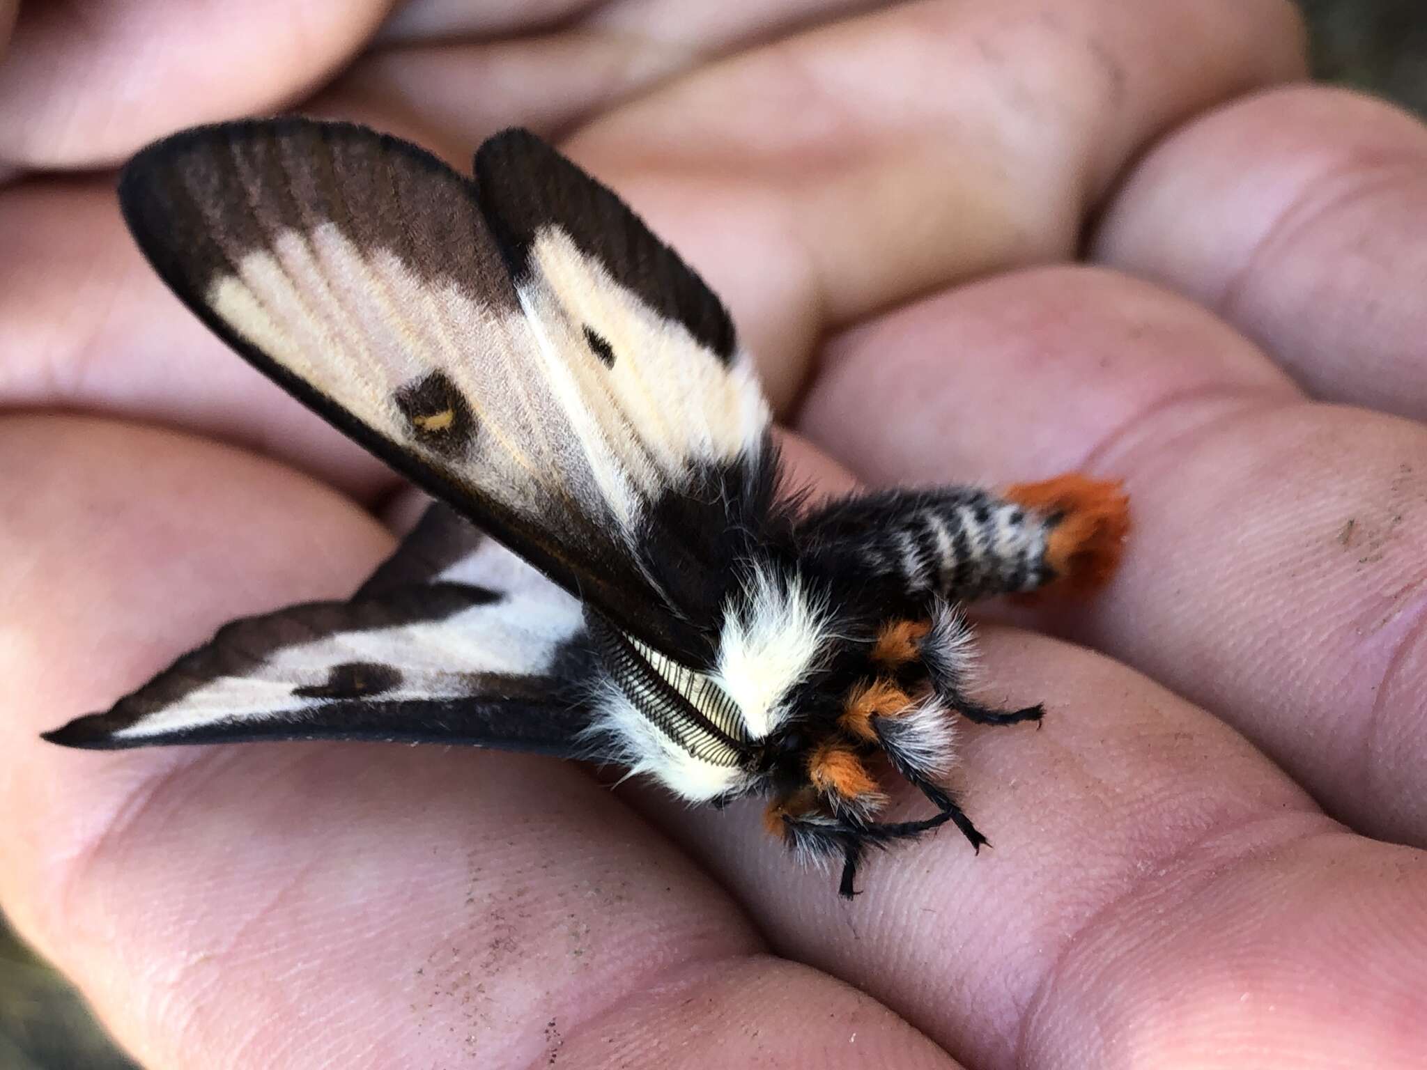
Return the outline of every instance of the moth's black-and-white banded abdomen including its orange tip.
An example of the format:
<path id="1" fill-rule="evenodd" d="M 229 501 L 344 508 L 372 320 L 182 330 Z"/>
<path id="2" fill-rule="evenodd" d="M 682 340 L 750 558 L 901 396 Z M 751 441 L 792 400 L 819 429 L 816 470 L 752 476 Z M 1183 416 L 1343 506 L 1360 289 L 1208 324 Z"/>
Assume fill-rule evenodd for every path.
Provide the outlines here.
<path id="1" fill-rule="evenodd" d="M 892 603 L 1089 589 L 1110 578 L 1129 531 L 1119 484 L 1065 475 L 1005 494 L 973 486 L 853 495 L 799 534 L 832 579 Z"/>

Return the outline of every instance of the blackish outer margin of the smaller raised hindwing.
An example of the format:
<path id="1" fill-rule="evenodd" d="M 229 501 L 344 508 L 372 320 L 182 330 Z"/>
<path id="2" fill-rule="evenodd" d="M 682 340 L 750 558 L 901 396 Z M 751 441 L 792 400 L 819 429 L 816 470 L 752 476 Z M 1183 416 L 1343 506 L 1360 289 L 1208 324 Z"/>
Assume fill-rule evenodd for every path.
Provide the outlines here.
<path id="1" fill-rule="evenodd" d="M 475 154 L 477 198 L 511 274 L 529 272 L 529 250 L 558 227 L 622 287 L 679 322 L 725 362 L 738 338 L 733 321 L 698 274 L 665 245 L 612 190 L 518 127 L 488 138 Z"/>

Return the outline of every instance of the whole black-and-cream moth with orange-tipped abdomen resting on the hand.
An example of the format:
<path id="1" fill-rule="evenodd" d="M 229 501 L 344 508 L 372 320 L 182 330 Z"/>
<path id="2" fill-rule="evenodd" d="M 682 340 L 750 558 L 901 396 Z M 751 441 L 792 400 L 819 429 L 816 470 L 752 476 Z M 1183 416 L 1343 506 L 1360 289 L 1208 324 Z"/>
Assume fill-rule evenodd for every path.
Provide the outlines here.
<path id="1" fill-rule="evenodd" d="M 138 153 L 118 198 L 174 294 L 437 501 L 345 602 L 234 621 L 76 748 L 468 743 L 625 766 L 689 803 L 766 799 L 805 860 L 953 822 L 959 606 L 1090 589 L 1117 484 L 791 494 L 719 298 L 525 130 L 474 180 L 345 123 L 235 121 Z M 930 802 L 883 820 L 899 775 Z"/>

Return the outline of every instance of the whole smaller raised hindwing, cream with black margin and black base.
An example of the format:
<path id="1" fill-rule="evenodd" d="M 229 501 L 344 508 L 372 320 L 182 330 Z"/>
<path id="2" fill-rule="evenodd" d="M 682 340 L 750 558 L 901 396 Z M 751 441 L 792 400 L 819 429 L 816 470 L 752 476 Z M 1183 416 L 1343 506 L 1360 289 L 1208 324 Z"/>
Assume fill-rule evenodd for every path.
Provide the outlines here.
<path id="1" fill-rule="evenodd" d="M 778 496 L 768 404 L 728 310 L 612 190 L 527 130 L 481 146 L 475 184 L 521 307 L 634 485 L 626 529 L 645 575 L 716 635 Z M 706 651 L 664 652 L 698 665 Z"/>

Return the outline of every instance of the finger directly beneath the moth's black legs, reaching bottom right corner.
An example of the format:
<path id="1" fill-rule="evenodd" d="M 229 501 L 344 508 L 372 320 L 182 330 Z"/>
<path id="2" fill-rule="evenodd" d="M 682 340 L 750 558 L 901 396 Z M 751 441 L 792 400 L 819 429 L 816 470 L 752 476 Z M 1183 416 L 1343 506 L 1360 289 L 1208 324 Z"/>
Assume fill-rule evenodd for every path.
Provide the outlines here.
<path id="1" fill-rule="evenodd" d="M 996 702 L 1049 708 L 1039 732 L 959 735 L 953 780 L 995 849 L 950 830 L 893 846 L 845 903 L 835 875 L 789 873 L 752 803 L 649 809 L 775 950 L 968 1066 L 1420 1060 L 1423 853 L 1343 833 L 1241 738 L 1107 659 L 995 629 L 982 655 Z M 909 795 L 893 820 L 926 815 Z"/>

